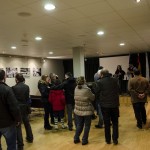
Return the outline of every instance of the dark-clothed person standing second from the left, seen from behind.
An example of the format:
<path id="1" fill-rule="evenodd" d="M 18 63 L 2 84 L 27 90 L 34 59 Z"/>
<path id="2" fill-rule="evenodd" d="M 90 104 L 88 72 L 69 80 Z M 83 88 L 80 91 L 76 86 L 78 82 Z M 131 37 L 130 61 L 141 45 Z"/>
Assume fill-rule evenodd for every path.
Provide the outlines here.
<path id="1" fill-rule="evenodd" d="M 21 119 L 26 131 L 26 141 L 28 143 L 32 143 L 33 134 L 32 134 L 29 118 L 28 118 L 29 115 L 28 101 L 30 98 L 30 89 L 29 86 L 24 83 L 25 79 L 21 73 L 16 74 L 15 81 L 16 81 L 16 85 L 13 86 L 12 89 L 20 107 Z M 23 143 L 21 124 L 17 127 L 17 145 L 18 145 L 18 150 L 23 150 L 24 143 Z"/>

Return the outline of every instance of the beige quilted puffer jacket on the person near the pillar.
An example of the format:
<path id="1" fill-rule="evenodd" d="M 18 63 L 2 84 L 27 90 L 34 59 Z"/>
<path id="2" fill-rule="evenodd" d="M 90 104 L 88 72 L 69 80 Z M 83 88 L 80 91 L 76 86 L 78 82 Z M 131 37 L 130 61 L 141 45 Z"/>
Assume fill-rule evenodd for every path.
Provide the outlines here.
<path id="1" fill-rule="evenodd" d="M 79 89 L 78 85 L 75 88 L 75 109 L 74 113 L 78 116 L 88 116 L 92 115 L 94 112 L 94 107 L 92 101 L 95 96 L 87 85 L 82 85 L 82 88 Z"/>

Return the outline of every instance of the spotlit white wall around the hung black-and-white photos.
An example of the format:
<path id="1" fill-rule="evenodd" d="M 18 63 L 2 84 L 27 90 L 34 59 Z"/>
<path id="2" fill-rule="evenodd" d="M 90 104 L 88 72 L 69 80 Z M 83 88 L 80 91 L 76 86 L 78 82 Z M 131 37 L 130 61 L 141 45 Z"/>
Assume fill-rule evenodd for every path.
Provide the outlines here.
<path id="1" fill-rule="evenodd" d="M 51 72 L 56 73 L 59 78 L 62 80 L 64 78 L 64 69 L 62 60 L 49 60 L 43 63 L 41 59 L 36 58 L 9 58 L 9 57 L 0 57 L 0 68 L 6 67 L 18 68 L 30 68 L 30 78 L 26 78 L 26 84 L 30 87 L 31 95 L 39 95 L 39 90 L 37 88 L 38 81 L 41 77 L 33 77 L 33 68 L 41 68 L 42 74 L 50 74 Z M 9 86 L 15 85 L 15 78 L 6 78 L 6 83 Z"/>

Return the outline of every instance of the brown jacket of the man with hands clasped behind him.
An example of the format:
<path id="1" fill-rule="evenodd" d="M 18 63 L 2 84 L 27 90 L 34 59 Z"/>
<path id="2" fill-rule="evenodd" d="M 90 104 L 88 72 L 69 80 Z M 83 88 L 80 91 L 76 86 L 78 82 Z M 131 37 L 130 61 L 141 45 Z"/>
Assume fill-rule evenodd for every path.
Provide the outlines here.
<path id="1" fill-rule="evenodd" d="M 149 82 L 146 78 L 141 76 L 135 76 L 131 78 L 128 82 L 128 90 L 131 94 L 132 103 L 146 102 L 147 94 L 149 92 Z M 145 94 L 145 97 L 140 99 L 138 94 Z"/>

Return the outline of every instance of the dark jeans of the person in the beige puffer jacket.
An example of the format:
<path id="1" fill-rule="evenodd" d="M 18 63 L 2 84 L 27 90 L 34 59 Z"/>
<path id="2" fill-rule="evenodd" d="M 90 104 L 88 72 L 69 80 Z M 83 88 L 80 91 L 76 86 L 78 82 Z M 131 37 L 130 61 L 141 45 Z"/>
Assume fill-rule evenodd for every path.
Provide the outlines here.
<path id="1" fill-rule="evenodd" d="M 76 128 L 74 140 L 79 140 L 80 135 L 81 135 L 83 128 L 84 128 L 82 143 L 88 142 L 88 136 L 89 136 L 89 131 L 90 131 L 90 127 L 91 127 L 91 120 L 92 120 L 91 116 L 78 116 L 78 115 L 76 115 L 77 128 Z"/>

